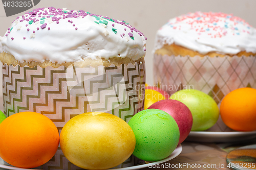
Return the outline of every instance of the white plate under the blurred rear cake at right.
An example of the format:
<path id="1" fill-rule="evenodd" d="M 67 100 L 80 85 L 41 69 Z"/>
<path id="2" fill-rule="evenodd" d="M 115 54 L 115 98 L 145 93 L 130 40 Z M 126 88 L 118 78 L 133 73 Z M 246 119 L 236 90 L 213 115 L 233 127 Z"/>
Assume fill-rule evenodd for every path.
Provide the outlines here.
<path id="1" fill-rule="evenodd" d="M 240 142 L 256 139 L 256 131 L 252 132 L 190 132 L 186 141 L 195 142 Z"/>

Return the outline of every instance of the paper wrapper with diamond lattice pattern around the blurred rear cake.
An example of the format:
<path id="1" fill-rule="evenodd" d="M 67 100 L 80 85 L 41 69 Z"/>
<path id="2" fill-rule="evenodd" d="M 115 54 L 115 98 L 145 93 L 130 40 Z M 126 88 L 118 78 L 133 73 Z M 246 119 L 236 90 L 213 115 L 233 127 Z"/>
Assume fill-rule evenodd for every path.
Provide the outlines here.
<path id="1" fill-rule="evenodd" d="M 256 56 L 190 57 L 154 55 L 154 83 L 169 94 L 194 88 L 212 96 L 218 106 L 230 91 L 256 88 Z M 207 131 L 233 131 L 222 121 Z"/>

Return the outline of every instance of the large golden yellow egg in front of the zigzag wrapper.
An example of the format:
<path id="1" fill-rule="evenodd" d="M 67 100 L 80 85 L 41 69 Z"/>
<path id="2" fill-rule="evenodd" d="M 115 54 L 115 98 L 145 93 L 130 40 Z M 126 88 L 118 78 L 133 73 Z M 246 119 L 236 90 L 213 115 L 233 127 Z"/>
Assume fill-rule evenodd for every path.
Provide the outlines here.
<path id="1" fill-rule="evenodd" d="M 121 118 L 102 112 L 77 115 L 60 133 L 66 158 L 84 169 L 108 169 L 129 158 L 135 148 L 132 128 Z"/>

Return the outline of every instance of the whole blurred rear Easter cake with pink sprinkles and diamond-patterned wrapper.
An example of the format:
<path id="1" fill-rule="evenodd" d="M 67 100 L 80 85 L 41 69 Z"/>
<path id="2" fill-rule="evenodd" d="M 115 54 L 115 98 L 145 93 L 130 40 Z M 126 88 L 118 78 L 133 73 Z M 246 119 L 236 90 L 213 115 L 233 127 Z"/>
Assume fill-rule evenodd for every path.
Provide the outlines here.
<path id="1" fill-rule="evenodd" d="M 188 13 L 156 34 L 154 83 L 169 94 L 197 89 L 218 105 L 230 91 L 256 88 L 256 30 L 232 14 Z M 231 131 L 219 125 L 209 131 Z"/>

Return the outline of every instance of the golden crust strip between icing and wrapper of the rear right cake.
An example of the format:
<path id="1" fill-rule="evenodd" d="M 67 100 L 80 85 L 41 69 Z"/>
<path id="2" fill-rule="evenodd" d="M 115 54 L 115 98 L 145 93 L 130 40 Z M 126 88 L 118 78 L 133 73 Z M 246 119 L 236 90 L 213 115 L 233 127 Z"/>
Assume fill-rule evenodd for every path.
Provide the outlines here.
<path id="1" fill-rule="evenodd" d="M 170 44 L 170 45 L 167 45 L 165 44 L 161 49 L 159 50 L 156 50 L 155 52 L 156 54 L 160 54 L 160 55 L 168 55 L 168 56 L 171 56 L 171 55 L 175 55 L 175 56 L 190 56 L 190 57 L 194 57 L 194 56 L 200 56 L 200 57 L 204 57 L 204 56 L 210 56 L 210 57 L 215 57 L 215 56 L 219 56 L 219 57 L 224 57 L 224 56 L 255 56 L 256 54 L 255 53 L 247 53 L 245 51 L 243 52 L 240 52 L 238 54 L 234 54 L 234 55 L 230 55 L 230 54 L 218 54 L 216 52 L 210 52 L 210 53 L 207 53 L 205 55 L 202 55 L 196 51 L 193 51 L 193 50 L 189 50 L 188 48 L 186 47 L 183 47 L 183 46 L 180 46 L 180 45 L 176 45 L 176 44 Z"/>

